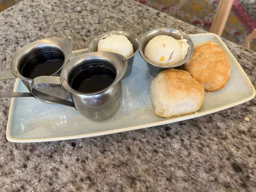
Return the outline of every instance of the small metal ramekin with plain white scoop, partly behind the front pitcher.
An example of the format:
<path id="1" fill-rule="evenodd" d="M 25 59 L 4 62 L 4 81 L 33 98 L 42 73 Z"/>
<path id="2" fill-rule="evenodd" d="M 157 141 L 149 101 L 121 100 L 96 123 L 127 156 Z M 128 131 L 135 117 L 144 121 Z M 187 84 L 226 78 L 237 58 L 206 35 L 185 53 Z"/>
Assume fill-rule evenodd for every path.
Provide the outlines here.
<path id="1" fill-rule="evenodd" d="M 137 35 L 130 33 L 130 32 L 126 32 L 126 31 L 109 31 L 109 32 L 103 33 L 101 35 L 98 35 L 90 42 L 89 48 L 88 48 L 89 52 L 97 52 L 99 40 L 105 39 L 109 35 L 125 35 L 132 44 L 133 54 L 131 56 L 129 56 L 128 58 L 126 58 L 128 65 L 127 65 L 125 74 L 122 78 L 122 79 L 125 79 L 132 72 L 134 56 L 136 53 L 138 53 L 139 48 L 140 48 L 140 38 Z"/>

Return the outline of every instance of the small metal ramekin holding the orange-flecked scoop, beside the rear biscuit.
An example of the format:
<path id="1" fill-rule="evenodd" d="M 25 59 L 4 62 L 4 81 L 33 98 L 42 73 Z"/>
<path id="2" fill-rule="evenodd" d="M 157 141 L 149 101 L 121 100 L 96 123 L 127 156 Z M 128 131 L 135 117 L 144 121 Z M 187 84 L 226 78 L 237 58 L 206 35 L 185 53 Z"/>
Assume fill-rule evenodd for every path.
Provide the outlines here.
<path id="1" fill-rule="evenodd" d="M 179 63 L 174 64 L 174 65 L 159 65 L 159 64 L 154 63 L 153 61 L 150 61 L 149 59 L 147 59 L 147 57 L 144 55 L 144 49 L 145 49 L 146 45 L 148 44 L 148 42 L 151 39 L 153 39 L 154 37 L 156 37 L 157 35 L 168 35 L 170 37 L 173 37 L 174 39 L 181 39 L 181 37 L 182 37 L 182 39 L 187 39 L 189 48 L 188 48 L 188 53 L 187 53 L 187 56 L 185 57 L 185 59 Z M 165 69 L 177 68 L 178 66 L 186 63 L 191 58 L 191 56 L 194 52 L 194 44 L 193 44 L 192 39 L 184 32 L 174 29 L 174 28 L 170 28 L 170 27 L 160 27 L 160 28 L 149 30 L 142 35 L 141 41 L 140 41 L 139 52 L 140 52 L 140 56 L 142 56 L 142 58 L 147 62 L 150 74 L 153 76 L 156 76 L 159 72 L 161 72 Z"/>

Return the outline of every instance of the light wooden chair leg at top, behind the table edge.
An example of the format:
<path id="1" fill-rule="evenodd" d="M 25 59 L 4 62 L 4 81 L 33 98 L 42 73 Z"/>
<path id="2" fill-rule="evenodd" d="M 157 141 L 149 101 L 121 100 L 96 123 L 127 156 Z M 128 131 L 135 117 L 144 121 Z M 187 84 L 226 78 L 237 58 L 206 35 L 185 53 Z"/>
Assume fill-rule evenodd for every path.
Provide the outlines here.
<path id="1" fill-rule="evenodd" d="M 218 9 L 214 16 L 214 20 L 210 29 L 211 33 L 215 33 L 219 36 L 222 35 L 232 4 L 233 0 L 219 1 Z"/>

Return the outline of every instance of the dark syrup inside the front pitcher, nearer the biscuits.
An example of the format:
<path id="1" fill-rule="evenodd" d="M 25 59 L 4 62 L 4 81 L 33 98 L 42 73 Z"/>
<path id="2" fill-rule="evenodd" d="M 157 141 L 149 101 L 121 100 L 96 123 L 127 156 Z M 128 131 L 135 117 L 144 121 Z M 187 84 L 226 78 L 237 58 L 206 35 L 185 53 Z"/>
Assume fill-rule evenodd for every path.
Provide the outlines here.
<path id="1" fill-rule="evenodd" d="M 76 91 L 94 93 L 110 86 L 115 78 L 116 72 L 114 69 L 106 65 L 97 64 L 76 72 L 70 81 L 70 85 Z"/>

